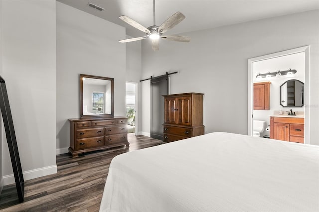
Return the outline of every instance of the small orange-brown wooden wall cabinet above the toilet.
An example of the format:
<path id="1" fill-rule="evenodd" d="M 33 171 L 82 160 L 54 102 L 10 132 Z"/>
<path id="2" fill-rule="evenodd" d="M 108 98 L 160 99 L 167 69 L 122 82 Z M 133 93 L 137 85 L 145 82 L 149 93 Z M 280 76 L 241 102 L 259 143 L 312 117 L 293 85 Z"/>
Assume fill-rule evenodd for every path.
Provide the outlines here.
<path id="1" fill-rule="evenodd" d="M 270 83 L 254 83 L 254 109 L 269 110 L 270 103 Z"/>

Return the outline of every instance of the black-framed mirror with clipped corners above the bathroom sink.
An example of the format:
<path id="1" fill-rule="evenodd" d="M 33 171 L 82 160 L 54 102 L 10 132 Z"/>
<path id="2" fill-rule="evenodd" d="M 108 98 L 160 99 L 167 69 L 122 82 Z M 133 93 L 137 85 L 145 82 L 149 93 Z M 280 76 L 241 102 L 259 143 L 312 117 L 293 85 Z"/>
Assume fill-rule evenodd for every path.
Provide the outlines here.
<path id="1" fill-rule="evenodd" d="M 280 105 L 283 107 L 302 107 L 304 105 L 304 83 L 288 80 L 280 86 Z"/>

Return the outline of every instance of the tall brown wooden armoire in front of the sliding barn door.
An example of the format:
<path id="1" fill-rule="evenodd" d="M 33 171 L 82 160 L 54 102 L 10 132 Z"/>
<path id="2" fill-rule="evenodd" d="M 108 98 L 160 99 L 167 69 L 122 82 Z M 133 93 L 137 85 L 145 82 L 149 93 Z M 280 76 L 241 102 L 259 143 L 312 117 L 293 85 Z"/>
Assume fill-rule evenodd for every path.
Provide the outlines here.
<path id="1" fill-rule="evenodd" d="M 172 142 L 205 133 L 203 95 L 184 93 L 163 95 L 165 99 L 164 142 Z"/>

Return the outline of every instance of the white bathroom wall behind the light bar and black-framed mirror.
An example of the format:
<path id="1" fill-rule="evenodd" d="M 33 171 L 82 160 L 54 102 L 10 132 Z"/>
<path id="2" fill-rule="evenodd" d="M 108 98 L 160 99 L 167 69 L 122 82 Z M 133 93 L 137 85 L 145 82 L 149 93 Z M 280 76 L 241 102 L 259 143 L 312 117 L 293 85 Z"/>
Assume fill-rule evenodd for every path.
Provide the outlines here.
<path id="1" fill-rule="evenodd" d="M 259 80 L 256 78 L 258 73 L 264 74 L 267 72 L 276 72 L 277 70 L 285 71 L 289 68 L 297 70 L 294 76 L 283 75 L 281 77 L 272 77 L 270 79 L 262 78 Z M 278 114 L 279 110 L 282 109 L 284 114 L 286 111 L 292 109 L 294 112 L 299 111 L 305 112 L 305 106 L 303 107 L 282 107 L 280 105 L 280 86 L 287 80 L 297 79 L 305 83 L 305 52 L 296 54 L 285 55 L 282 57 L 271 58 L 267 60 L 261 60 L 253 63 L 253 80 L 254 83 L 258 82 L 271 82 L 270 84 L 270 109 L 269 110 L 254 110 L 254 120 L 266 121 L 267 126 L 270 125 L 269 116 Z M 299 114 L 297 113 L 297 114 Z M 261 137 L 269 135 L 266 130 L 261 133 Z"/>

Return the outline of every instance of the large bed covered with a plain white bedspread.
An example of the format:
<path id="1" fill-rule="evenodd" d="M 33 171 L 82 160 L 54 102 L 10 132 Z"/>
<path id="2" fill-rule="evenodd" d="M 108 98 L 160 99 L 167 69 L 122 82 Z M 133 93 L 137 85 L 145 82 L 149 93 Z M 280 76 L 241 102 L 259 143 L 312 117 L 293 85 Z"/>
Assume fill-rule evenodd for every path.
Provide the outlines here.
<path id="1" fill-rule="evenodd" d="M 215 132 L 113 158 L 100 212 L 318 212 L 319 146 Z"/>

